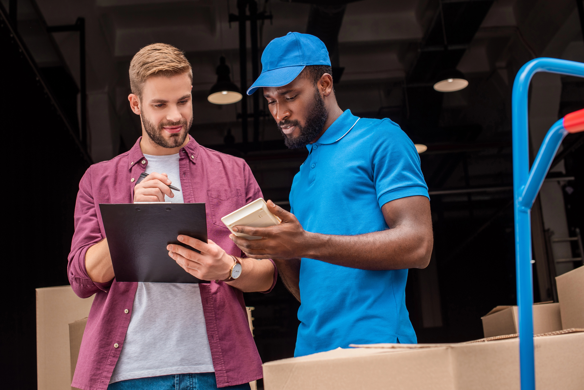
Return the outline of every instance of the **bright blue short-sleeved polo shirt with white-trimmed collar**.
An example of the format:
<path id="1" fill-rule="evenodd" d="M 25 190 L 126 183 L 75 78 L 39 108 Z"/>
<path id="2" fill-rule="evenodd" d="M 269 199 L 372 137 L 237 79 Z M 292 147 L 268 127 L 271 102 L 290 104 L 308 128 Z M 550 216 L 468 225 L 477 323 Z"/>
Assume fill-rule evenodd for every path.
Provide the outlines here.
<path id="1" fill-rule="evenodd" d="M 415 146 L 389 119 L 359 119 L 346 110 L 307 148 L 290 191 L 291 211 L 307 231 L 381 231 L 388 228 L 385 203 L 428 196 Z M 303 258 L 294 356 L 352 343 L 416 343 L 405 307 L 407 277 L 406 269 L 369 271 Z"/>

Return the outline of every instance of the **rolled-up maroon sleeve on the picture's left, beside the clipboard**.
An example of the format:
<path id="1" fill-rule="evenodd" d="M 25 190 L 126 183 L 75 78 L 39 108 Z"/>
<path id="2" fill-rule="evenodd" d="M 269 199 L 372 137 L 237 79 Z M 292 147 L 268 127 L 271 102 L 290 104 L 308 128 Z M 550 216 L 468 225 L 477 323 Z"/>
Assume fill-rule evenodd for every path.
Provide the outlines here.
<path id="1" fill-rule="evenodd" d="M 91 167 L 79 182 L 75 203 L 75 233 L 68 256 L 67 277 L 75 294 L 88 298 L 100 290 L 107 291 L 109 283 L 94 283 L 85 269 L 85 253 L 104 238 L 99 228 L 97 210 L 93 201 Z"/>

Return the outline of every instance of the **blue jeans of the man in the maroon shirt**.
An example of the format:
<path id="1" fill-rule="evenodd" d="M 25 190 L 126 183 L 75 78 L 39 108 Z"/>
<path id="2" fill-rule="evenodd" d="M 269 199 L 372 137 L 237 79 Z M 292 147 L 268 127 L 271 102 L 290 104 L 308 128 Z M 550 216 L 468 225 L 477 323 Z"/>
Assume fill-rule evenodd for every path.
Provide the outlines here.
<path id="1" fill-rule="evenodd" d="M 162 375 L 162 377 L 127 379 L 113 382 L 107 390 L 210 390 L 217 389 L 215 372 Z M 249 390 L 249 384 L 227 386 L 225 390 Z"/>

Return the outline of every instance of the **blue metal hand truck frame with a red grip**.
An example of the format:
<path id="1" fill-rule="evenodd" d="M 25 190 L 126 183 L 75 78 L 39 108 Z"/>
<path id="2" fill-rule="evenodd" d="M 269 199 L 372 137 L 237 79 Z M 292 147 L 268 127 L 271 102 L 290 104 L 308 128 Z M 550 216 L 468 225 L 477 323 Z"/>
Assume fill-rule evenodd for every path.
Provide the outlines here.
<path id="1" fill-rule="evenodd" d="M 517 306 L 519 307 L 519 361 L 521 389 L 535 390 L 536 372 L 533 351 L 533 281 L 531 277 L 530 212 L 541 184 L 550 169 L 559 145 L 568 133 L 584 130 L 584 110 L 569 113 L 548 130 L 536 159 L 529 169 L 527 90 L 537 72 L 584 77 L 584 64 L 536 58 L 527 62 L 513 83 L 513 208 L 515 213 L 515 266 Z"/>

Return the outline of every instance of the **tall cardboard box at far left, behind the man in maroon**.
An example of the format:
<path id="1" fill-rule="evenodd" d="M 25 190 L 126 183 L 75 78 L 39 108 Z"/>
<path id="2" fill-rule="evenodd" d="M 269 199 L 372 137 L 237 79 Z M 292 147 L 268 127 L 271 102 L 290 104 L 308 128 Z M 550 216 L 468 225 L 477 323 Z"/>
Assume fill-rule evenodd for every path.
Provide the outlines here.
<path id="1" fill-rule="evenodd" d="M 36 289 L 37 385 L 71 389 L 69 323 L 85 318 L 93 297 L 81 299 L 70 285 Z"/>

